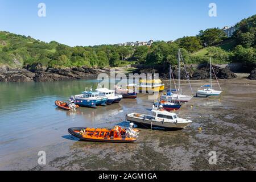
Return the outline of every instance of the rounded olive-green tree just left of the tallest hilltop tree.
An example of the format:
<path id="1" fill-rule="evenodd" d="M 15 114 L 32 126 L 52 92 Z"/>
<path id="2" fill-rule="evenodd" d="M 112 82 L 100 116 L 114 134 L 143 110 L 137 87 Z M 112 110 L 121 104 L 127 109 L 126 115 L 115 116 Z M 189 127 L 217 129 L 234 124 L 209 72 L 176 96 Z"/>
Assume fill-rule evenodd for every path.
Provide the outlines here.
<path id="1" fill-rule="evenodd" d="M 187 49 L 189 52 L 195 52 L 202 48 L 201 41 L 196 36 L 184 36 L 179 39 L 179 46 Z"/>

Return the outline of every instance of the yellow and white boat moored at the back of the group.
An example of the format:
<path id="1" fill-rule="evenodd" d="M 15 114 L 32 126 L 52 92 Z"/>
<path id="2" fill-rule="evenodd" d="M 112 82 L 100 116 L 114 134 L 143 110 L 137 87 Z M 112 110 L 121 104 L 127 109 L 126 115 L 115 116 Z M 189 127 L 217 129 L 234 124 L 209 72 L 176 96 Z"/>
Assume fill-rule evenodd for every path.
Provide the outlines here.
<path id="1" fill-rule="evenodd" d="M 164 84 L 160 79 L 140 81 L 140 84 L 128 84 L 127 89 L 137 90 L 139 92 L 162 92 Z"/>

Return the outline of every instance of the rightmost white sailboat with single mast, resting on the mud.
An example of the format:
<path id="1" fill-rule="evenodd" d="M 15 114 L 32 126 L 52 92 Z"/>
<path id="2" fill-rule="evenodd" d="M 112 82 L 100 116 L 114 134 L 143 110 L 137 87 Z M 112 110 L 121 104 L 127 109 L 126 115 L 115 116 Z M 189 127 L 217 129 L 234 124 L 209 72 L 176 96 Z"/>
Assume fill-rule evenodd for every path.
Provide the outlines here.
<path id="1" fill-rule="evenodd" d="M 196 97 L 198 96 L 205 96 L 205 97 L 210 97 L 210 96 L 219 96 L 222 91 L 219 91 L 219 90 L 214 90 L 212 88 L 212 58 L 210 57 L 210 85 L 203 85 L 201 86 L 201 88 L 203 89 L 198 89 L 197 92 L 196 92 Z M 213 73 L 214 73 L 214 70 L 213 70 Z M 214 73 L 215 75 L 215 73 Z M 215 75 L 216 77 L 216 75 Z M 217 80 L 217 83 L 218 83 L 218 79 L 216 77 L 216 80 Z M 220 84 L 218 83 L 218 86 L 220 87 Z M 220 87 L 220 90 L 221 90 L 221 87 Z"/>

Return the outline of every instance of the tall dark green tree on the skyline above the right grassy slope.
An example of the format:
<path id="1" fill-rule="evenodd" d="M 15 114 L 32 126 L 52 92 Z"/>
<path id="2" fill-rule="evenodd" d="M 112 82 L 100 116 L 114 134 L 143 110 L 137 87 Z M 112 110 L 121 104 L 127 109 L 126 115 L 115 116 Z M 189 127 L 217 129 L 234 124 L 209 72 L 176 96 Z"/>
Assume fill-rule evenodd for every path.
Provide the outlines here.
<path id="1" fill-rule="evenodd" d="M 199 36 L 205 47 L 213 46 L 226 38 L 225 32 L 220 30 L 220 28 L 208 28 L 205 31 L 201 30 L 197 36 Z"/>

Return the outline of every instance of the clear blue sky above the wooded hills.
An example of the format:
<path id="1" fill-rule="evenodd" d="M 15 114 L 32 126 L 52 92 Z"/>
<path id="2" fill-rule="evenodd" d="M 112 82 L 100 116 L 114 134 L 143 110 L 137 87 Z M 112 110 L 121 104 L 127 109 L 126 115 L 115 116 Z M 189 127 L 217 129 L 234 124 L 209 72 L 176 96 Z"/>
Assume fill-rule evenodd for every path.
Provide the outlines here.
<path id="1" fill-rule="evenodd" d="M 38 16 L 40 2 L 47 7 L 45 18 Z M 217 17 L 208 16 L 211 2 L 217 4 Z M 208 27 L 232 26 L 255 13 L 255 0 L 0 0 L 0 30 L 94 46 L 175 40 Z"/>

